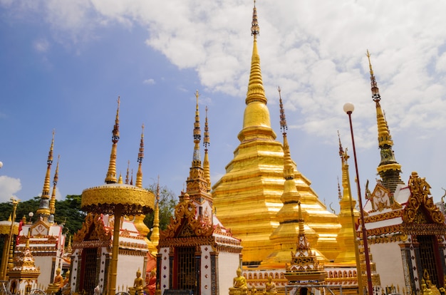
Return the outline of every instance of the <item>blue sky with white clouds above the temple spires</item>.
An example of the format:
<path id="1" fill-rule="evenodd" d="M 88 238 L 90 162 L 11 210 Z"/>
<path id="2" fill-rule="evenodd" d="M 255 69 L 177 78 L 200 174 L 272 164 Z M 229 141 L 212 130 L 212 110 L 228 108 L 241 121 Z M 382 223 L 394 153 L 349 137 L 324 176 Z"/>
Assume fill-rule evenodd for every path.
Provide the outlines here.
<path id="1" fill-rule="evenodd" d="M 51 133 L 58 197 L 103 183 L 120 96 L 118 172 L 160 176 L 179 195 L 192 161 L 195 90 L 208 106 L 212 183 L 242 129 L 252 1 L 0 0 L 0 202 L 41 193 Z M 418 171 L 435 202 L 446 187 L 446 11 L 442 1 L 257 1 L 259 54 L 271 125 L 281 140 L 281 86 L 291 157 L 337 208 L 343 104 L 355 104 L 361 184 L 379 163 L 371 56 L 402 178 Z M 352 155 L 352 152 L 351 152 Z M 353 179 L 353 155 L 351 157 Z M 52 179 L 51 179 L 52 181 Z"/>

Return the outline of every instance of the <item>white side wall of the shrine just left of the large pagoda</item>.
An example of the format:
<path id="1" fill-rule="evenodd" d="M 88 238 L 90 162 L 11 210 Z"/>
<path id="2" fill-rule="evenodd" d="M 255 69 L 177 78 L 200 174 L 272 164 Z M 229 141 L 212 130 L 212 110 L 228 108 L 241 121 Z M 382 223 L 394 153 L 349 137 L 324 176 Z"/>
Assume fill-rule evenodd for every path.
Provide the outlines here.
<path id="1" fill-rule="evenodd" d="M 240 254 L 219 252 L 218 254 L 218 279 L 219 294 L 229 294 L 232 280 L 237 276 L 237 268 L 240 266 Z"/>

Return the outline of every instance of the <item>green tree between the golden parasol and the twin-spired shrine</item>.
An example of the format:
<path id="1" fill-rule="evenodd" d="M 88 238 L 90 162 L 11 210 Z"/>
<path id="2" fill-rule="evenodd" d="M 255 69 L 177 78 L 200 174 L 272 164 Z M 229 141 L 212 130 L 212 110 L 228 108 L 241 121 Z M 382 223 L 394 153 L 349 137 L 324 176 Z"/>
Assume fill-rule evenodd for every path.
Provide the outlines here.
<path id="1" fill-rule="evenodd" d="M 157 196 L 157 184 L 153 183 L 152 185 L 149 185 L 147 187 L 147 190 L 150 190 L 150 192 L 153 192 L 155 195 L 155 203 L 156 203 L 156 196 Z M 175 205 L 177 205 L 178 198 L 175 195 L 175 192 L 170 190 L 167 186 L 160 187 L 160 230 L 164 230 L 167 227 L 167 224 L 170 223 L 170 217 L 172 217 L 172 214 L 175 210 Z M 148 228 L 153 227 L 153 217 L 154 213 L 147 214 L 144 223 L 147 225 Z"/>

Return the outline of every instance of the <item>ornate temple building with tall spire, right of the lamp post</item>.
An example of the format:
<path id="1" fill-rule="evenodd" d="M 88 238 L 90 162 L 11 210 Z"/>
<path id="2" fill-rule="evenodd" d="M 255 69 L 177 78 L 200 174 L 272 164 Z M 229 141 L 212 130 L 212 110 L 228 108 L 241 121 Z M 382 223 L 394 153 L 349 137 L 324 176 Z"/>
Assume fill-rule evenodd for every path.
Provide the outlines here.
<path id="1" fill-rule="evenodd" d="M 372 191 L 366 189 L 368 243 L 382 286 L 398 285 L 406 294 L 415 294 L 422 289 L 425 272 L 433 285 L 444 285 L 445 216 L 434 204 L 425 178 L 412 172 L 407 184 L 400 179 L 401 166 L 392 150 L 369 53 L 368 61 L 381 159 L 380 180 Z"/>

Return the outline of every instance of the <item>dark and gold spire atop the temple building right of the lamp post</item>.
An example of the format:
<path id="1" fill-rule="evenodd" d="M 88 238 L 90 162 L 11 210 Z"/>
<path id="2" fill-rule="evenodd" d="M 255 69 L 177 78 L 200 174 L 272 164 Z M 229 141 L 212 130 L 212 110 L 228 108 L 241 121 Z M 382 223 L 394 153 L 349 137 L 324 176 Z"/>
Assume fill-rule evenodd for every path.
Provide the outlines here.
<path id="1" fill-rule="evenodd" d="M 378 174 L 381 177 L 382 184 L 390 192 L 395 192 L 398 184 L 404 184 L 401 180 L 401 165 L 395 160 L 393 153 L 393 140 L 390 136 L 388 124 L 385 120 L 383 110 L 381 109 L 380 100 L 381 96 L 376 83 L 375 76 L 373 75 L 372 64 L 370 63 L 370 53 L 367 51 L 368 66 L 370 68 L 370 85 L 372 90 L 372 98 L 376 106 L 376 120 L 378 123 L 378 146 L 380 148 L 381 161 L 377 167 Z"/>

